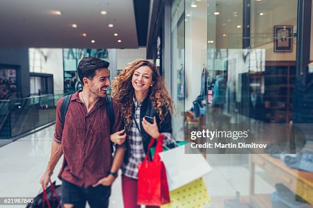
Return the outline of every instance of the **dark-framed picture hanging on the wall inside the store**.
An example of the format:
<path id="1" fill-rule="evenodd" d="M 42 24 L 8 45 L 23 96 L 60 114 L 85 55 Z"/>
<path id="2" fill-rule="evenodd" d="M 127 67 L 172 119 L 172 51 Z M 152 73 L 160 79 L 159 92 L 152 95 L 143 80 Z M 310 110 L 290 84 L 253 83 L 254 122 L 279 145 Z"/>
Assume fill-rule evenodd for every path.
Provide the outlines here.
<path id="1" fill-rule="evenodd" d="M 274 26 L 274 52 L 293 51 L 293 26 Z"/>

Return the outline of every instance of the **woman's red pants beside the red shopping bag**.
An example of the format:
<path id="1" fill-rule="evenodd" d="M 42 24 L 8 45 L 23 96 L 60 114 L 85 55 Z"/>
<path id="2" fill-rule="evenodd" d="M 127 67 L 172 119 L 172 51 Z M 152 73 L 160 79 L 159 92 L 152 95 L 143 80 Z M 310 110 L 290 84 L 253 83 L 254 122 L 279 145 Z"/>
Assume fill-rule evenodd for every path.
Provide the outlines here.
<path id="1" fill-rule="evenodd" d="M 137 204 L 137 180 L 122 175 L 122 192 L 124 208 L 140 208 Z M 157 208 L 160 206 L 146 206 L 146 208 Z"/>

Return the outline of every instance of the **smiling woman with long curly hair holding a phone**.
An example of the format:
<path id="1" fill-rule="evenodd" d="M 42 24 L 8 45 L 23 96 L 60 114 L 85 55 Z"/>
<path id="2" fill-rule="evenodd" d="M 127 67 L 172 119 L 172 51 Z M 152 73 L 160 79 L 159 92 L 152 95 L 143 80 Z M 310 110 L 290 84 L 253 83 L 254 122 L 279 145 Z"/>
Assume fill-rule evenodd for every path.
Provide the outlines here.
<path id="1" fill-rule="evenodd" d="M 127 135 L 127 151 L 122 165 L 122 191 L 125 208 L 137 205 L 138 163 L 143 162 L 151 137 L 164 135 L 164 145 L 173 141 L 173 104 L 157 67 L 147 60 L 135 60 L 122 70 L 113 84 L 112 95 L 120 105 Z M 121 143 L 118 132 L 111 140 Z M 124 134 L 125 134 L 124 133 Z M 146 206 L 155 207 L 155 206 Z"/>

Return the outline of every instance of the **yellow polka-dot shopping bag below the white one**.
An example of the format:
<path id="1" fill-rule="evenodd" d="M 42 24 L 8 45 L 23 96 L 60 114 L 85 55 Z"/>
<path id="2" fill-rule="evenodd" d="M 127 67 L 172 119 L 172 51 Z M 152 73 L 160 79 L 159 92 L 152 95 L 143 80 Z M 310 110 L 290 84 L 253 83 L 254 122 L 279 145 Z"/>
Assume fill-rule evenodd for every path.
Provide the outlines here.
<path id="1" fill-rule="evenodd" d="M 196 179 L 185 186 L 170 192 L 171 202 L 161 208 L 198 208 L 211 203 L 203 178 Z"/>

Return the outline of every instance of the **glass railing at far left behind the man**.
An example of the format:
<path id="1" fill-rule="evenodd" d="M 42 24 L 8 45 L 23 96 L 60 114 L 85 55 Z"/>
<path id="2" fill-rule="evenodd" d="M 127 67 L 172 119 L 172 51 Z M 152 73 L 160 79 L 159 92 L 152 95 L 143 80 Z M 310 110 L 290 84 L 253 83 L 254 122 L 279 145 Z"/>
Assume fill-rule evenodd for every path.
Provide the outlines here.
<path id="1" fill-rule="evenodd" d="M 0 100 L 0 138 L 14 138 L 53 123 L 56 103 L 66 94 Z"/>

